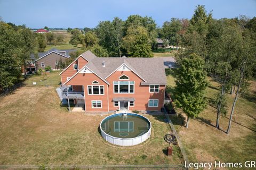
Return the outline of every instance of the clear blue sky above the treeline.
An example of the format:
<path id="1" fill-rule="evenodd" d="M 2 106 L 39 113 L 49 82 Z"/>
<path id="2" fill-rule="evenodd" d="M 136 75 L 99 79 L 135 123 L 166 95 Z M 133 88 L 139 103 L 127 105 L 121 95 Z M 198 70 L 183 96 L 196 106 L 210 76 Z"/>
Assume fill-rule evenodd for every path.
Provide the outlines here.
<path id="1" fill-rule="evenodd" d="M 161 27 L 171 18 L 190 19 L 197 5 L 205 5 L 215 19 L 256 16 L 256 0 L 0 0 L 0 16 L 29 28 L 94 28 L 99 21 L 139 14 Z"/>

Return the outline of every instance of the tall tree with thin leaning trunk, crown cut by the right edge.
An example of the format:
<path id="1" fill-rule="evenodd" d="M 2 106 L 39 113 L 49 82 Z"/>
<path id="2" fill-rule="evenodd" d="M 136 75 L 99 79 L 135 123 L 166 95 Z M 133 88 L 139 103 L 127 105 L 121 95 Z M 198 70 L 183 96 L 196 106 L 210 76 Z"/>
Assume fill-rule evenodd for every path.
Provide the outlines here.
<path id="1" fill-rule="evenodd" d="M 231 122 L 235 111 L 236 102 L 239 96 L 239 92 L 243 87 L 243 84 L 246 83 L 248 79 L 250 79 L 250 75 L 252 74 L 252 69 L 255 66 L 256 62 L 256 43 L 254 39 L 254 35 L 251 31 L 244 30 L 243 32 L 243 40 L 241 45 L 241 52 L 239 53 L 239 58 L 237 60 L 237 63 L 239 63 L 239 83 L 237 86 L 236 96 L 233 101 L 233 105 L 231 108 L 229 123 L 228 123 L 228 129 L 227 133 L 230 132 L 231 128 Z"/>

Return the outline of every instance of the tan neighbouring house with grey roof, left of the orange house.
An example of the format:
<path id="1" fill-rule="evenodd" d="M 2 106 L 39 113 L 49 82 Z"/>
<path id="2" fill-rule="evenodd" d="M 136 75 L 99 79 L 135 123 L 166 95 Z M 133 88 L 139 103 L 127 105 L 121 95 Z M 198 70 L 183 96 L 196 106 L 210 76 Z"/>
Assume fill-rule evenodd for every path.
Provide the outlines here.
<path id="1" fill-rule="evenodd" d="M 38 53 L 38 59 L 32 54 L 31 60 L 34 60 L 36 70 L 45 69 L 46 66 L 51 66 L 53 70 L 58 70 L 58 62 L 65 62 L 70 58 L 69 53 L 73 52 L 74 49 L 61 49 L 52 48 L 47 52 Z"/>

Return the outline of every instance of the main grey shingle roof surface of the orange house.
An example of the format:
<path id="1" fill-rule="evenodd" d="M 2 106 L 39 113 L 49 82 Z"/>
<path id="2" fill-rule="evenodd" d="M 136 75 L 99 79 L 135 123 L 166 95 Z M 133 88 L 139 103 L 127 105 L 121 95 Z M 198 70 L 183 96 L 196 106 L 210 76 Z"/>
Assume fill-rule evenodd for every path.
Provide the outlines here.
<path id="1" fill-rule="evenodd" d="M 90 60 L 86 66 L 102 79 L 106 79 L 109 74 L 124 63 L 147 81 L 142 80 L 141 84 L 166 84 L 162 58 L 93 57 Z M 103 61 L 105 61 L 105 67 L 103 67 Z"/>

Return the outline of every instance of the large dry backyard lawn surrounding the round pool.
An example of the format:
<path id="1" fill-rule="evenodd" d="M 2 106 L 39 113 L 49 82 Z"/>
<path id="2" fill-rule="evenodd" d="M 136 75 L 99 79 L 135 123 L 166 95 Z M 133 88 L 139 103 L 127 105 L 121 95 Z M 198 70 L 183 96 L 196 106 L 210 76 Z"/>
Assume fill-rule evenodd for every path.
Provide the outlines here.
<path id="1" fill-rule="evenodd" d="M 57 85 L 58 72 L 45 80 Z M 26 83 L 41 79 L 29 78 Z M 42 85 L 47 85 L 44 83 Z M 178 146 L 168 157 L 163 137 L 170 133 L 164 115 L 144 115 L 152 123 L 150 139 L 133 147 L 103 140 L 98 128 L 107 115 L 71 113 L 60 107 L 52 86 L 25 86 L 0 98 L 0 164 L 2 165 L 129 165 L 182 164 Z"/>

